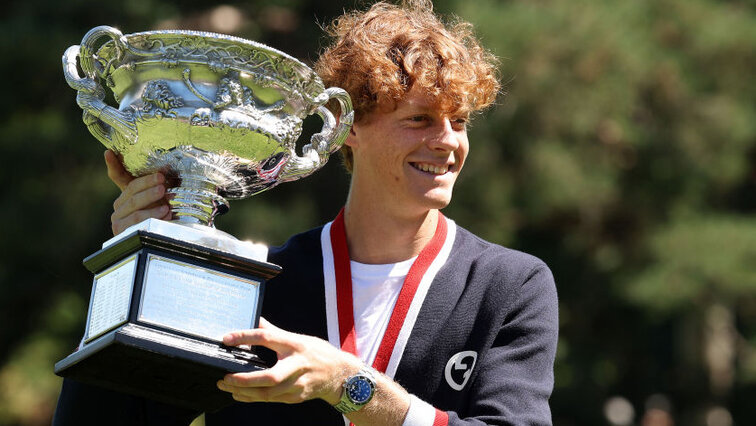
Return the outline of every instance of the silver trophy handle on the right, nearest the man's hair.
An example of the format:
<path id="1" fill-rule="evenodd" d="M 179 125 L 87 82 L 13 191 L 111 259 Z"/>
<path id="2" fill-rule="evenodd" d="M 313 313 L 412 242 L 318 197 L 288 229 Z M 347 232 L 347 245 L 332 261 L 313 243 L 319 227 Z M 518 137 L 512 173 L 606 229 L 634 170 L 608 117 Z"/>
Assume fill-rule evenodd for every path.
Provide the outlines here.
<path id="1" fill-rule="evenodd" d="M 302 156 L 292 156 L 279 175 L 279 182 L 288 182 L 310 175 L 323 167 L 328 157 L 344 144 L 354 123 L 352 99 L 346 90 L 338 87 L 326 89 L 328 99 L 335 99 L 341 107 L 337 122 L 333 113 L 321 105 L 315 111 L 323 120 L 323 128 L 312 135 L 310 143 L 302 147 Z M 327 102 L 326 102 L 327 103 Z"/>

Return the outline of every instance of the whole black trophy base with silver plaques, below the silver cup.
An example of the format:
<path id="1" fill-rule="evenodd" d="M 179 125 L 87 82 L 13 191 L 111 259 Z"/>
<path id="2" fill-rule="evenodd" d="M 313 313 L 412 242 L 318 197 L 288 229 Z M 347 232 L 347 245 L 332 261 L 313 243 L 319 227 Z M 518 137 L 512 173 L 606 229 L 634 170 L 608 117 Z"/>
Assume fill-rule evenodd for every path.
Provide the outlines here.
<path id="1" fill-rule="evenodd" d="M 205 242 L 135 229 L 84 259 L 95 274 L 84 338 L 55 374 L 193 410 L 233 403 L 216 382 L 274 360 L 223 335 L 258 326 L 281 267 Z"/>

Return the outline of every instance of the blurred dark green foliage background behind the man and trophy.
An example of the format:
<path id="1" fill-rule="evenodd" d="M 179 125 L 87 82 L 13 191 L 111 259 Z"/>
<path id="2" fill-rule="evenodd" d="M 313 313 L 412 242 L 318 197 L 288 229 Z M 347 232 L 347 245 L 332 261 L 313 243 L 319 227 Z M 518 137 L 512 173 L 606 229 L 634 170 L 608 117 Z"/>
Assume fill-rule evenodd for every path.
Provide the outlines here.
<path id="1" fill-rule="evenodd" d="M 0 12 L 0 424 L 49 424 L 53 364 L 83 332 L 85 256 L 116 187 L 60 57 L 90 28 L 184 28 L 312 63 L 354 0 L 11 0 Z M 756 424 L 756 2 L 438 0 L 501 59 L 445 213 L 552 267 L 556 425 Z M 319 126 L 317 119 L 309 127 Z M 232 203 L 280 244 L 332 218 L 348 178 Z"/>

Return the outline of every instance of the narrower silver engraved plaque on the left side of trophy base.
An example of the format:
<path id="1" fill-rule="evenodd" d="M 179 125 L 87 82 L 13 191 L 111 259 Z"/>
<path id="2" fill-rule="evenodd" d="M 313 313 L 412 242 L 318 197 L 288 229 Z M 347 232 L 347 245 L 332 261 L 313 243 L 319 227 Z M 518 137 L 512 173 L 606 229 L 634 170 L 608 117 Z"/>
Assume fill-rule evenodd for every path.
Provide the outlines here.
<path id="1" fill-rule="evenodd" d="M 94 278 L 84 341 L 112 330 L 128 319 L 137 256 L 131 256 Z"/>

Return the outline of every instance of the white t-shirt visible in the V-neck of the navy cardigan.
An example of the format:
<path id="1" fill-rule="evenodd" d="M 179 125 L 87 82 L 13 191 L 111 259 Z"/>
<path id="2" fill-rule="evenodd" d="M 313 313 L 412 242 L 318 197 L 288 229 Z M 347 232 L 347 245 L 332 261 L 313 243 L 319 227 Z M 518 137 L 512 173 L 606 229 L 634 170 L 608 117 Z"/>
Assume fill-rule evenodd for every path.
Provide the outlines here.
<path id="1" fill-rule="evenodd" d="M 415 259 L 382 265 L 350 261 L 355 344 L 360 359 L 368 365 L 378 353 L 404 278 Z"/>

